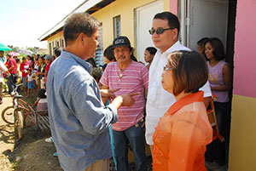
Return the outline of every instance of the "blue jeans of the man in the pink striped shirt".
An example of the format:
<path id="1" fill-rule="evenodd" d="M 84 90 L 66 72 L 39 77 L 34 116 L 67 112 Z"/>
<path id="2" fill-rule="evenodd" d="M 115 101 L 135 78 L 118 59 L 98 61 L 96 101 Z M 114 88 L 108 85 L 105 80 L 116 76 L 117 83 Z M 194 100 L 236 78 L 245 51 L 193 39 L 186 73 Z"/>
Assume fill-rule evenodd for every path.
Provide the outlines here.
<path id="1" fill-rule="evenodd" d="M 128 171 L 128 145 L 135 158 L 137 171 L 147 171 L 145 156 L 145 140 L 142 122 L 138 123 L 138 127 L 132 126 L 124 131 L 113 130 L 114 157 L 117 162 L 118 171 Z"/>

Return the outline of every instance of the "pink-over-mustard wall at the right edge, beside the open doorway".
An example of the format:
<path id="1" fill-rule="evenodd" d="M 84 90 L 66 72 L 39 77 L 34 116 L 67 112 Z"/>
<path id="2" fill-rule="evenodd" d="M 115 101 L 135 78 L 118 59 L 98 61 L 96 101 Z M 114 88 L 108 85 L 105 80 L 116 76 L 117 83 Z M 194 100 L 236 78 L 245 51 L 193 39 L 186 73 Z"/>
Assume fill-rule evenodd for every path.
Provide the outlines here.
<path id="1" fill-rule="evenodd" d="M 255 9 L 255 0 L 237 1 L 230 171 L 253 171 L 256 168 Z"/>

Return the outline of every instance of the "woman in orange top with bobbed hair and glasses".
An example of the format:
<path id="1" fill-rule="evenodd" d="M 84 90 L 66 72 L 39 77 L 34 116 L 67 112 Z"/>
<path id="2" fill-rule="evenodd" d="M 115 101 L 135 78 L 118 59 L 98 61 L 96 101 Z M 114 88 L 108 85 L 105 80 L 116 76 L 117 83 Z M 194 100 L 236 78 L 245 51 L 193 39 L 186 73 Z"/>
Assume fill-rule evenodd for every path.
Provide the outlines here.
<path id="1" fill-rule="evenodd" d="M 154 171 L 207 171 L 206 145 L 212 141 L 212 127 L 203 104 L 207 64 L 197 52 L 178 51 L 168 56 L 162 86 L 174 94 L 173 104 L 155 128 Z"/>

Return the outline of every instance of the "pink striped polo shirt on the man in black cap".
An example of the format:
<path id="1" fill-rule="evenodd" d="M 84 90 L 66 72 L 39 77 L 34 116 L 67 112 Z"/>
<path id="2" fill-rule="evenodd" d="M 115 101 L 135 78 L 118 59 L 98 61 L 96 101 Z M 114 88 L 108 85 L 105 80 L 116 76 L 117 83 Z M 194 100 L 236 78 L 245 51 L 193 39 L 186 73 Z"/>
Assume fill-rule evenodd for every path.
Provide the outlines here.
<path id="1" fill-rule="evenodd" d="M 138 123 L 143 118 L 144 88 L 148 88 L 148 68 L 143 64 L 131 61 L 131 65 L 121 71 L 118 62 L 108 64 L 100 82 L 109 89 L 120 88 L 114 94 L 137 93 L 133 96 L 135 104 L 131 107 L 120 106 L 118 110 L 119 120 L 112 124 L 113 130 L 123 131 Z"/>

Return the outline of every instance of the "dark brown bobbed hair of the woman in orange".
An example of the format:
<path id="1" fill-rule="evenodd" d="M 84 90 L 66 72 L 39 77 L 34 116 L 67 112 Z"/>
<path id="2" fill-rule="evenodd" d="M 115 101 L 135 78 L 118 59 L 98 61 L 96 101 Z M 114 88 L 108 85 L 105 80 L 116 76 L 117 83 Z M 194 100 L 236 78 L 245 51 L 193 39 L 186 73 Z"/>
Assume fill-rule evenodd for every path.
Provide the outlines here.
<path id="1" fill-rule="evenodd" d="M 195 51 L 176 51 L 168 55 L 172 68 L 173 94 L 195 93 L 208 80 L 207 63 L 203 56 Z"/>

